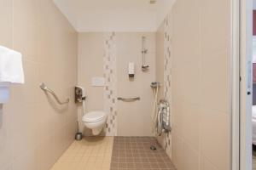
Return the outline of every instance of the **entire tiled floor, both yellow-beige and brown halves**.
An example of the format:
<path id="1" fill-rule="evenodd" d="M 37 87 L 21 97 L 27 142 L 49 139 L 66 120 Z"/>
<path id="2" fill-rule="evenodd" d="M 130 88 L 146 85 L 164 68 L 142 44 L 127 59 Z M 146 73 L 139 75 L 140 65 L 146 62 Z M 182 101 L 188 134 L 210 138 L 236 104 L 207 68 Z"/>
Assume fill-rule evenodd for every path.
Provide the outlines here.
<path id="1" fill-rule="evenodd" d="M 151 145 L 156 150 L 150 150 Z M 150 137 L 86 137 L 74 141 L 51 170 L 175 170 Z"/>

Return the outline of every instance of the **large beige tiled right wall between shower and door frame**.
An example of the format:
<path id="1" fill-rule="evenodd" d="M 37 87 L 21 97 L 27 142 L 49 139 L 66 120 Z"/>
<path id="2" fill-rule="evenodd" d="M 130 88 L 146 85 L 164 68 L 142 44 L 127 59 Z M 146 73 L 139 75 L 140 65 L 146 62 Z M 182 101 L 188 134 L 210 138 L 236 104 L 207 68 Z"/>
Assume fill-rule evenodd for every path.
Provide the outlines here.
<path id="1" fill-rule="evenodd" d="M 170 46 L 172 69 L 156 67 L 171 77 L 172 132 L 160 143 L 179 170 L 230 169 L 230 0 L 178 0 L 166 20 L 157 58 Z"/>

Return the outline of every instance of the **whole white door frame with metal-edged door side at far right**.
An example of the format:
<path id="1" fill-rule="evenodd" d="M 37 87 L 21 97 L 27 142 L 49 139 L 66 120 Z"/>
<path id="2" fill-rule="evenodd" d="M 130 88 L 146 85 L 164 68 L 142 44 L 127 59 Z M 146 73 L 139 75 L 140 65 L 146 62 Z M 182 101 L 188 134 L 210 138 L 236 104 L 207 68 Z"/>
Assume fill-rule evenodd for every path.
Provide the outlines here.
<path id="1" fill-rule="evenodd" d="M 231 167 L 251 170 L 253 0 L 232 0 L 231 9 Z"/>

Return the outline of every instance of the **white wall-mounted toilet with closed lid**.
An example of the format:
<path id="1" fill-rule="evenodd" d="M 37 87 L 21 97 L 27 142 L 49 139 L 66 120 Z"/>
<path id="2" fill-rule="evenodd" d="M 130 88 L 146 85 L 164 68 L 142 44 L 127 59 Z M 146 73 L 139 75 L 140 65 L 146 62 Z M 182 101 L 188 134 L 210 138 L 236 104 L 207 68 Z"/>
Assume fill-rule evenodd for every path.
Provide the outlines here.
<path id="1" fill-rule="evenodd" d="M 107 113 L 104 111 L 90 111 L 83 116 L 85 127 L 91 129 L 93 135 L 98 135 L 102 132 L 107 122 Z"/>

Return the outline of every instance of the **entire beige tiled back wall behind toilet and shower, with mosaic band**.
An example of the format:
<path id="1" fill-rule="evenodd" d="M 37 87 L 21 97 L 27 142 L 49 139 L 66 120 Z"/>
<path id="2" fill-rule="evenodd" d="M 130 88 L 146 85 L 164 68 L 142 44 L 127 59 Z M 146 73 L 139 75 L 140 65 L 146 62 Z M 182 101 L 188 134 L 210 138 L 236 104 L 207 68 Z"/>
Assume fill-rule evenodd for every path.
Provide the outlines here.
<path id="1" fill-rule="evenodd" d="M 143 36 L 147 37 L 147 62 L 150 65 L 147 72 L 141 71 Z M 106 135 L 153 135 L 150 117 L 154 94 L 150 83 L 155 81 L 154 59 L 154 32 L 79 33 L 79 85 L 86 91 L 86 112 L 101 110 L 108 113 Z M 136 65 L 133 80 L 128 77 L 129 62 Z M 92 77 L 105 77 L 106 86 L 92 87 Z M 141 97 L 141 100 L 125 103 L 117 97 Z"/>

